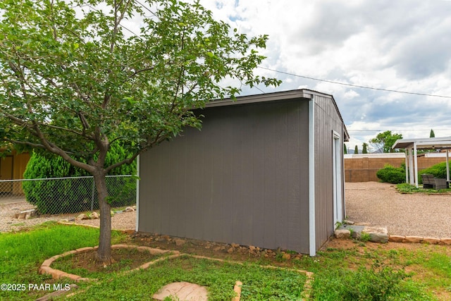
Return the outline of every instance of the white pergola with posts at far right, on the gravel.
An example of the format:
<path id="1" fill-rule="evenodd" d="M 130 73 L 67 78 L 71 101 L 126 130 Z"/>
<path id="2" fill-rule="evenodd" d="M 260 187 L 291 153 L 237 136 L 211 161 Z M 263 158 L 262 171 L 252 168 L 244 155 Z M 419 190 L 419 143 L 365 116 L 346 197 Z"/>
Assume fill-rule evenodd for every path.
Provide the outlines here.
<path id="1" fill-rule="evenodd" d="M 450 156 L 451 137 L 434 137 L 422 139 L 400 139 L 395 142 L 393 149 L 405 149 L 406 152 L 406 182 L 418 187 L 418 149 L 445 149 L 446 150 L 446 180 L 450 183 Z"/>

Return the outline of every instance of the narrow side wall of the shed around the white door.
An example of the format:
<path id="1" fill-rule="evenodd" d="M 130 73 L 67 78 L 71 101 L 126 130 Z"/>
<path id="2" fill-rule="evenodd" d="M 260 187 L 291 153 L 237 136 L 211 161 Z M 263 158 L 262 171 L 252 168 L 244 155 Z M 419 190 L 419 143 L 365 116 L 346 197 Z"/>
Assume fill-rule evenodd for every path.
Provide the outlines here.
<path id="1" fill-rule="evenodd" d="M 316 249 L 333 234 L 333 130 L 343 145 L 343 123 L 330 97 L 315 96 L 315 216 Z M 342 149 L 341 149 L 342 153 Z M 342 162 L 340 162 L 342 165 Z M 342 166 L 341 170 L 344 170 Z M 344 183 L 344 176 L 342 178 Z M 342 208 L 344 185 L 342 184 Z"/>

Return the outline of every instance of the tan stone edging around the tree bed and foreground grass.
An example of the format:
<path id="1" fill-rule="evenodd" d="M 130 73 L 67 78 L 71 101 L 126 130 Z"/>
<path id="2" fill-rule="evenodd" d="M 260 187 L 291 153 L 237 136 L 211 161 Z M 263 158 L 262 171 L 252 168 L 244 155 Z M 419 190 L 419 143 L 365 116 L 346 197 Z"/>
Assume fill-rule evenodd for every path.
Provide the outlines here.
<path id="1" fill-rule="evenodd" d="M 95 281 L 96 279 L 92 279 L 92 278 L 84 278 L 75 274 L 70 274 L 70 273 L 66 273 L 64 271 L 60 271 L 58 269 L 52 269 L 50 267 L 50 265 L 58 258 L 61 257 L 65 257 L 68 256 L 70 254 L 75 254 L 75 253 L 81 253 L 81 252 L 88 252 L 88 251 L 92 251 L 92 250 L 97 250 L 99 248 L 99 246 L 96 247 L 81 247 L 77 250 L 72 250 L 72 251 L 68 251 L 68 252 L 64 252 L 62 254 L 58 254 L 55 255 L 53 257 L 50 257 L 49 259 L 45 260 L 41 266 L 39 266 L 39 274 L 49 274 L 51 275 L 52 278 L 54 279 L 60 279 L 60 278 L 69 278 L 75 282 L 80 282 L 80 281 Z M 160 250 L 160 249 L 156 249 L 153 247 L 146 247 L 146 246 L 140 246 L 140 245 L 111 245 L 111 248 L 115 248 L 115 249 L 134 249 L 136 248 L 137 250 L 144 252 L 150 252 L 151 254 L 166 254 L 166 253 L 172 253 L 171 255 L 168 255 L 166 257 L 161 257 L 158 259 L 153 260 L 152 262 L 147 262 L 145 264 L 142 264 L 141 266 L 132 269 L 130 271 L 124 271 L 123 274 L 128 274 L 132 271 L 137 271 L 140 269 L 147 269 L 149 268 L 149 266 L 152 266 L 153 264 L 156 264 L 157 262 L 161 262 L 162 260 L 166 260 L 166 259 L 173 259 L 173 258 L 177 258 L 177 257 L 192 257 L 192 258 L 197 258 L 197 259 L 208 259 L 208 260 L 213 260 L 216 262 L 227 262 L 227 263 L 231 263 L 231 264 L 241 264 L 243 265 L 244 263 L 242 262 L 234 262 L 234 261 L 230 261 L 230 260 L 224 260 L 224 259 L 219 259 L 219 258 L 213 258 L 213 257 L 205 257 L 205 256 L 200 256 L 200 255 L 193 255 L 193 254 L 185 254 L 185 253 L 180 253 L 178 251 L 173 251 L 173 250 Z M 301 274 L 305 274 L 307 276 L 307 280 L 305 281 L 305 285 L 304 285 L 304 293 L 307 297 L 307 299 L 309 298 L 310 292 L 311 292 L 311 282 L 313 281 L 314 278 L 314 274 L 312 272 L 309 271 L 304 271 L 304 270 L 299 270 L 299 269 L 290 269 L 290 268 L 284 268 L 281 266 L 261 266 L 263 268 L 266 269 L 283 269 L 283 270 L 287 270 L 287 271 L 295 271 L 297 273 L 301 273 Z M 235 285 L 233 287 L 233 290 L 235 291 L 235 297 L 233 297 L 232 301 L 240 301 L 240 297 L 241 297 L 241 287 L 242 287 L 242 282 L 240 281 L 236 281 Z M 69 293 L 69 290 L 67 291 L 67 293 Z M 49 296 L 49 295 L 48 295 Z M 44 296 L 44 298 L 47 296 Z M 42 300 L 47 300 L 47 299 L 42 299 Z"/>

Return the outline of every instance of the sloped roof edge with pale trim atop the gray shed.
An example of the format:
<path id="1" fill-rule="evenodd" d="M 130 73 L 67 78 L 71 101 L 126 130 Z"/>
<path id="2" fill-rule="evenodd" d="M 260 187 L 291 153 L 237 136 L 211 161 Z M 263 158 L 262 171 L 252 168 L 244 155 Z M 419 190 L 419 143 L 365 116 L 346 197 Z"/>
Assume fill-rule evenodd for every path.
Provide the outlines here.
<path id="1" fill-rule="evenodd" d="M 210 107 L 214 107 L 214 106 L 233 106 L 233 105 L 237 105 L 237 104 L 252 104 L 252 103 L 257 103 L 257 102 L 274 102 L 274 101 L 280 101 L 280 100 L 299 99 L 299 98 L 311 99 L 311 97 L 314 95 L 317 95 L 320 97 L 327 97 L 331 100 L 331 102 L 333 102 L 333 105 L 335 106 L 335 109 L 337 110 L 338 116 L 340 116 L 340 120 L 343 123 L 343 128 L 344 128 L 344 132 L 345 132 L 344 140 L 349 141 L 350 135 L 347 132 L 345 122 L 343 121 L 340 110 L 338 109 L 337 103 L 335 102 L 333 95 L 314 91 L 314 90 L 298 89 L 298 90 L 288 90 L 288 91 L 282 91 L 282 92 L 254 94 L 254 95 L 236 97 L 236 100 L 231 99 L 231 98 L 216 99 L 213 102 L 207 103 L 205 107 L 210 108 Z"/>

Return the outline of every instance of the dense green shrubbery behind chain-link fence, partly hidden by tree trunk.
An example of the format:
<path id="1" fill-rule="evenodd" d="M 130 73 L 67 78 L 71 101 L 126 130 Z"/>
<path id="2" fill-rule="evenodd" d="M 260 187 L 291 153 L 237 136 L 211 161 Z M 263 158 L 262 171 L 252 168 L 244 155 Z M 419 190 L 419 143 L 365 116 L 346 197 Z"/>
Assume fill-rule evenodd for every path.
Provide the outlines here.
<path id="1" fill-rule="evenodd" d="M 125 159 L 125 155 L 121 147 L 113 147 L 106 157 L 106 164 Z M 115 168 L 109 174 L 116 176 L 135 173 L 136 163 Z M 23 176 L 25 179 L 42 179 L 90 175 L 68 164 L 61 156 L 33 152 Z M 135 178 L 106 178 L 106 184 L 111 206 L 126 206 L 135 202 Z M 23 191 L 27 202 L 34 204 L 42 214 L 74 213 L 99 208 L 92 178 L 24 181 Z"/>

